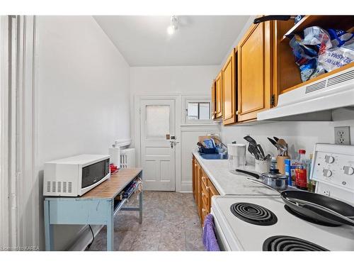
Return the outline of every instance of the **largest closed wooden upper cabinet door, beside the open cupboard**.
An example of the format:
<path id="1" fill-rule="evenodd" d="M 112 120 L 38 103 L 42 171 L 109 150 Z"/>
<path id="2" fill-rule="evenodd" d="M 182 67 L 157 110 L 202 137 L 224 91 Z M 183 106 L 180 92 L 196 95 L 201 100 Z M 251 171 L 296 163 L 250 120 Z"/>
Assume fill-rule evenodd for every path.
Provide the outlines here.
<path id="1" fill-rule="evenodd" d="M 251 26 L 238 46 L 238 121 L 257 118 L 270 108 L 270 22 Z"/>

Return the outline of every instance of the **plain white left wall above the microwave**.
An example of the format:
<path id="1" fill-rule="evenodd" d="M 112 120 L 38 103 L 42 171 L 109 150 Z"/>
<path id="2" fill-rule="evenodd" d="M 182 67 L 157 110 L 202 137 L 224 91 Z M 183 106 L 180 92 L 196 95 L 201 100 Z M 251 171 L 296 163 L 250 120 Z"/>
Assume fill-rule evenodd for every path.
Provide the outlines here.
<path id="1" fill-rule="evenodd" d="M 60 157 L 108 154 L 113 140 L 130 138 L 127 62 L 91 16 L 39 16 L 37 33 L 40 170 Z M 42 171 L 39 178 L 42 194 Z M 80 228 L 57 226 L 55 248 L 67 248 Z"/>

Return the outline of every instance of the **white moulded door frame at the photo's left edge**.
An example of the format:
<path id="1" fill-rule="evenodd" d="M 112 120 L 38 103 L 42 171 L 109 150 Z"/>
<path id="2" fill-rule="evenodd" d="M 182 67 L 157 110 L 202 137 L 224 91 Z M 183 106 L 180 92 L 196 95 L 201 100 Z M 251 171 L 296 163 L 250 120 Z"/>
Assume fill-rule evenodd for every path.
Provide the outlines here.
<path id="1" fill-rule="evenodd" d="M 0 243 L 39 248 L 36 17 L 0 19 L 0 209 L 7 214 L 1 217 Z"/>

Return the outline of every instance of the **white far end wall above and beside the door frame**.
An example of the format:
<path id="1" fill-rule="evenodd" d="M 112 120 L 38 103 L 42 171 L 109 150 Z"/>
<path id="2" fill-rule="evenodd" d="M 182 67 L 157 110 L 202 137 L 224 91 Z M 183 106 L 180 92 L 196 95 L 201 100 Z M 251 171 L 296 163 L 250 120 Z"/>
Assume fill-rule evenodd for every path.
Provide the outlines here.
<path id="1" fill-rule="evenodd" d="M 181 66 L 181 67 L 131 67 L 130 68 L 130 91 L 132 112 L 134 113 L 134 96 L 139 94 L 178 94 L 209 96 L 211 97 L 212 79 L 220 70 L 218 65 L 206 66 Z M 182 98 L 183 99 L 183 98 Z M 183 105 L 183 104 L 182 104 Z M 185 111 L 181 106 L 176 106 L 176 111 L 181 112 L 182 120 Z M 135 118 L 132 116 L 132 132 L 135 132 Z M 138 124 L 138 123 L 137 123 Z M 185 128 L 181 126 L 181 129 Z M 219 127 L 210 125 L 190 127 L 181 132 L 181 171 L 176 171 L 176 190 L 181 192 L 192 191 L 192 177 L 190 169 L 190 157 L 195 149 L 198 138 L 195 135 L 205 135 L 206 132 L 219 132 Z M 137 136 L 135 136 L 137 138 Z M 177 150 L 177 149 L 176 149 Z M 187 156 L 186 156 L 187 155 Z M 189 156 L 188 156 L 189 155 Z M 140 156 L 137 153 L 137 159 Z M 137 160 L 139 162 L 139 160 Z M 179 177 L 181 172 L 181 177 Z"/>

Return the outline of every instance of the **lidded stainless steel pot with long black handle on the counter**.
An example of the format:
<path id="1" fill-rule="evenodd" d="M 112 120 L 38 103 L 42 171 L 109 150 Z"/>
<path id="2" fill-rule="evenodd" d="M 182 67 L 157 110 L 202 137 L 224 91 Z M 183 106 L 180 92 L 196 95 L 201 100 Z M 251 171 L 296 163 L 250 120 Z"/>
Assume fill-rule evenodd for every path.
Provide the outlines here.
<path id="1" fill-rule="evenodd" d="M 256 179 L 260 179 L 264 184 L 273 187 L 273 189 L 287 189 L 287 176 L 280 174 L 278 169 L 272 169 L 270 172 L 265 172 L 261 175 L 241 169 L 236 169 L 236 172 L 241 172 L 244 174 L 249 174 L 252 177 L 256 177 Z"/>

